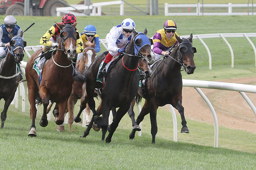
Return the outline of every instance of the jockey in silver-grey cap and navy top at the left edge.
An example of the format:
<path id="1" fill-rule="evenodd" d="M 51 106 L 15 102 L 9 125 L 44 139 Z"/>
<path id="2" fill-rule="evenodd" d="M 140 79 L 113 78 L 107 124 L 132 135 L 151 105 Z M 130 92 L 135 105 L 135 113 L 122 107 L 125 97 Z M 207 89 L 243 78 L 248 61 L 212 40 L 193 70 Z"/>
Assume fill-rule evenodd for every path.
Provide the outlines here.
<path id="1" fill-rule="evenodd" d="M 15 17 L 12 15 L 8 15 L 4 18 L 3 24 L 0 26 L 0 40 L 1 40 L 0 41 L 0 58 L 5 57 L 8 52 L 8 47 L 10 46 L 10 41 L 11 41 L 11 37 L 9 36 L 9 33 L 12 33 L 15 36 L 15 35 L 20 35 L 20 33 L 22 32 L 22 29 L 18 25 L 16 25 L 16 23 L 17 22 Z M 23 36 L 22 36 L 22 39 L 24 39 Z M 19 63 L 17 64 L 20 70 L 20 65 Z M 23 79 L 21 70 L 20 70 L 19 77 L 20 77 L 20 80 Z"/>

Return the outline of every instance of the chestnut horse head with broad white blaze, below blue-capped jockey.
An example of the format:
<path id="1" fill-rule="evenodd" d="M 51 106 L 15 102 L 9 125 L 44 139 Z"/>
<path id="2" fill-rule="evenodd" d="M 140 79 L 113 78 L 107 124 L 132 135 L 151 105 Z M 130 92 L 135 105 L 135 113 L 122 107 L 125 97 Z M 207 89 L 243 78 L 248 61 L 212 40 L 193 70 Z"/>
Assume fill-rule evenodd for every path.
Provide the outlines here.
<path id="1" fill-rule="evenodd" d="M 95 52 L 95 41 L 91 42 L 88 41 L 84 44 L 84 51 L 83 51 L 83 62 L 85 67 L 89 67 L 91 63 L 93 63 L 96 57 Z"/>

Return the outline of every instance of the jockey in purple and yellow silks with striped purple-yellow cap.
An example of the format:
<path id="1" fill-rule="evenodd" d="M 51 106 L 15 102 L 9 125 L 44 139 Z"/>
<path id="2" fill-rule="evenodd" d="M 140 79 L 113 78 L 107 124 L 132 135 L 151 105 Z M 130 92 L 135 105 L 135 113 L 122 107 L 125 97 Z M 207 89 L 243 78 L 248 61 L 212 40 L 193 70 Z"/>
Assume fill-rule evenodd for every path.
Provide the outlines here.
<path id="1" fill-rule="evenodd" d="M 175 35 L 179 36 L 176 29 L 176 23 L 169 19 L 163 24 L 163 29 L 155 33 L 153 36 L 153 51 L 156 53 L 155 60 L 159 60 L 161 55 L 170 54 L 170 47 L 178 43 L 175 37 Z"/>

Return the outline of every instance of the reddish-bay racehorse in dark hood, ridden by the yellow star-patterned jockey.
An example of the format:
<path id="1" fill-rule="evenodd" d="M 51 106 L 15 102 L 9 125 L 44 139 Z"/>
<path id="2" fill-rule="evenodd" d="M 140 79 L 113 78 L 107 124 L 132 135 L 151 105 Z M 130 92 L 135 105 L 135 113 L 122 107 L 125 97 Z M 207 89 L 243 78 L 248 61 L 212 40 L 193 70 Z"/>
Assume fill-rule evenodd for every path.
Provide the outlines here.
<path id="1" fill-rule="evenodd" d="M 60 40 L 56 53 L 52 53 L 52 57 L 43 65 L 42 81 L 39 83 L 39 75 L 33 68 L 34 59 L 39 55 L 42 49 L 35 51 L 29 58 L 26 66 L 26 78 L 28 84 L 28 99 L 30 103 L 30 117 L 32 125 L 28 136 L 37 136 L 35 131 L 35 117 L 37 109 L 35 107 L 35 99 L 38 93 L 43 103 L 43 115 L 39 124 L 42 127 L 47 126 L 46 109 L 49 100 L 56 102 L 58 106 L 58 117 L 55 118 L 57 125 L 64 121 L 64 114 L 68 105 L 68 98 L 72 91 L 74 82 L 72 59 L 76 55 L 76 39 L 79 38 L 79 33 L 75 31 L 75 24 L 62 25 L 56 23 L 61 29 Z M 56 107 L 55 107 L 56 108 Z"/>

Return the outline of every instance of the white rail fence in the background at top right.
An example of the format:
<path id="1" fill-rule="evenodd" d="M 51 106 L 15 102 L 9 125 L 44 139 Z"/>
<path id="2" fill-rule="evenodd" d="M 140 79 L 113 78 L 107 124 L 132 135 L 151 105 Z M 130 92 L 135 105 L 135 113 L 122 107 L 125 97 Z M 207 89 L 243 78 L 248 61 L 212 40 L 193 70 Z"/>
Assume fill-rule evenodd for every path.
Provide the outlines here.
<path id="1" fill-rule="evenodd" d="M 169 8 L 179 8 L 179 7 L 196 7 L 196 12 L 186 12 L 186 13 L 169 13 Z M 203 7 L 227 7 L 228 11 L 221 13 L 221 12 L 201 12 L 201 8 Z M 234 7 L 252 7 L 253 4 L 201 4 L 201 3 L 196 3 L 196 4 L 168 4 L 165 3 L 165 16 L 202 16 L 202 15 L 253 15 L 252 12 L 232 12 L 232 8 Z"/>

